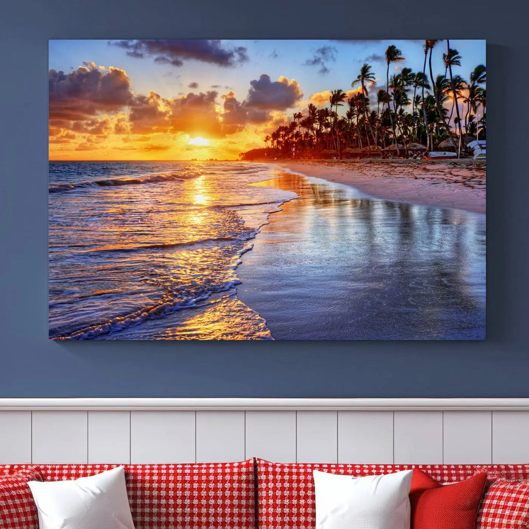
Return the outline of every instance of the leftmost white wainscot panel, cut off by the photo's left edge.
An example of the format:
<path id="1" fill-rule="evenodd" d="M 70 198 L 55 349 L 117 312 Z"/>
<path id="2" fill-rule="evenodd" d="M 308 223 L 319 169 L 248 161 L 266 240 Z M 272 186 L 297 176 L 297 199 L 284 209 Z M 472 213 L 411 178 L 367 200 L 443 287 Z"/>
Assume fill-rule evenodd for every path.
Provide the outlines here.
<path id="1" fill-rule="evenodd" d="M 0 412 L 0 464 L 31 463 L 31 412 Z"/>

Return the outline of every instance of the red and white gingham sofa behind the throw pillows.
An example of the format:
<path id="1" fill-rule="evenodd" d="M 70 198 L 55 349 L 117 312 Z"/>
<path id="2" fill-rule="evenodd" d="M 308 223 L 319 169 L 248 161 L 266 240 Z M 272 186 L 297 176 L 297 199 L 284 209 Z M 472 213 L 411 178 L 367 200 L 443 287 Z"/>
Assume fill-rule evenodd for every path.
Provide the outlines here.
<path id="1" fill-rule="evenodd" d="M 22 469 L 38 468 L 47 480 L 76 479 L 117 466 L 0 465 L 0 477 Z M 493 481 L 497 478 L 528 480 L 529 464 L 316 464 L 249 459 L 235 463 L 126 464 L 124 467 L 136 529 L 313 529 L 313 470 L 366 476 L 410 468 L 420 468 L 443 484 L 487 471 L 489 503 L 484 513 L 482 500 L 476 527 L 529 527 L 529 514 L 527 519 L 520 518 L 529 512 L 529 488 L 525 485 L 519 491 L 513 491 L 512 487 L 501 485 L 503 481 L 498 481 L 497 486 Z M 511 524 L 513 513 L 516 513 L 517 523 Z"/>

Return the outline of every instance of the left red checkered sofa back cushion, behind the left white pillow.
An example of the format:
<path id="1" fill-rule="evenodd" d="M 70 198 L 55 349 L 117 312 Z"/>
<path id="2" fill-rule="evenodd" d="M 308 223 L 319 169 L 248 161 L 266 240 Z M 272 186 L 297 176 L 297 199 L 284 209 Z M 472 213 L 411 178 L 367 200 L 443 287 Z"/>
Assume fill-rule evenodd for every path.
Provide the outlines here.
<path id="1" fill-rule="evenodd" d="M 39 468 L 46 479 L 63 480 L 117 466 L 49 464 Z M 0 474 L 24 467 L 0 467 Z M 255 529 L 253 460 L 124 467 L 136 529 Z"/>

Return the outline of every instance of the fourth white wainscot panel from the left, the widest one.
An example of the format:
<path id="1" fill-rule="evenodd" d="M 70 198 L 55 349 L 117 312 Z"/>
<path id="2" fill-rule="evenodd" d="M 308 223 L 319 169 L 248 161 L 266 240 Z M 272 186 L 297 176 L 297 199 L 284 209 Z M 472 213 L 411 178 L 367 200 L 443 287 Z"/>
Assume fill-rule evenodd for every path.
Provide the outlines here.
<path id="1" fill-rule="evenodd" d="M 195 459 L 195 412 L 131 412 L 131 463 Z"/>

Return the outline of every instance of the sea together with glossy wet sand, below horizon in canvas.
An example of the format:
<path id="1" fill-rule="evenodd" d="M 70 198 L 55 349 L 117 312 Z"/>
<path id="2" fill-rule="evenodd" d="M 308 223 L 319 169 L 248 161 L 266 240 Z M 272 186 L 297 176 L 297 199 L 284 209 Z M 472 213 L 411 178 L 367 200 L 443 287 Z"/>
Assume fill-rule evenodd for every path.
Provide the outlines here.
<path id="1" fill-rule="evenodd" d="M 482 339 L 485 246 L 485 215 L 271 165 L 50 162 L 49 336 Z"/>

